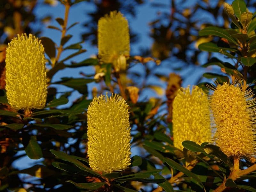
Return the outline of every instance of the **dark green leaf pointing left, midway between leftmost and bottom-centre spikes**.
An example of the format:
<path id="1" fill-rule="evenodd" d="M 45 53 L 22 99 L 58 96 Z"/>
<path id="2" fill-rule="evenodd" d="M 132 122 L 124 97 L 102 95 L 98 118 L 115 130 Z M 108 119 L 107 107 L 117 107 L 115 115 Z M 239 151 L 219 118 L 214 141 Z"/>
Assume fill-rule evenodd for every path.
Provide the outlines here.
<path id="1" fill-rule="evenodd" d="M 76 89 L 78 92 L 82 94 L 87 93 L 87 83 L 94 82 L 95 79 L 84 79 L 84 78 L 62 78 L 62 81 L 55 82 L 52 84 L 62 84 L 67 87 Z"/>

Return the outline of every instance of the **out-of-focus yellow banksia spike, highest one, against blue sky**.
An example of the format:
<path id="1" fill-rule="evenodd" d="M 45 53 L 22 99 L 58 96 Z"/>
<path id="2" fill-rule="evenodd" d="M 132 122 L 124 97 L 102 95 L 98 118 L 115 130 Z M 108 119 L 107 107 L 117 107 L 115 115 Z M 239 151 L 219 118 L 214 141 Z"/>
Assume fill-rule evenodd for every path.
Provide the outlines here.
<path id="1" fill-rule="evenodd" d="M 98 48 L 100 61 L 113 63 L 116 71 L 126 69 L 130 55 L 128 21 L 121 12 L 112 11 L 98 22 Z"/>

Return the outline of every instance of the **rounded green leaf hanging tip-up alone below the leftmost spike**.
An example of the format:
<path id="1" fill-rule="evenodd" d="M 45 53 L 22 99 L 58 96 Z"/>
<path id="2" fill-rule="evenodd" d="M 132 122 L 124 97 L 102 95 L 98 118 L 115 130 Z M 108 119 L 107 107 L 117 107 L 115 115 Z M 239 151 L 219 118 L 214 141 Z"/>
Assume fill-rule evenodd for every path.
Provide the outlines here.
<path id="1" fill-rule="evenodd" d="M 30 159 L 40 159 L 43 157 L 42 149 L 36 140 L 36 135 L 30 136 L 28 145 L 25 147 L 25 151 Z"/>

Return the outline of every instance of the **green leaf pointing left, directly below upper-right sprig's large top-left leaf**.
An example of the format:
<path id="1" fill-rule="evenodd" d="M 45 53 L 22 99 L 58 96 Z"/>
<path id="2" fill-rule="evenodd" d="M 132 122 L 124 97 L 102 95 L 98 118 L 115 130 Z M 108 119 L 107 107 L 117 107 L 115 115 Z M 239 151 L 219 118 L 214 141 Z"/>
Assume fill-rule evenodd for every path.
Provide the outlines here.
<path id="1" fill-rule="evenodd" d="M 221 53 L 223 55 L 226 55 L 230 58 L 235 58 L 233 55 L 231 55 L 230 53 L 228 53 L 226 50 L 227 48 L 222 48 L 222 47 L 218 47 L 216 44 L 212 43 L 212 42 L 208 42 L 208 43 L 202 43 L 198 46 L 198 48 L 201 51 L 208 51 L 208 52 L 217 52 L 217 53 Z M 229 49 L 232 50 L 232 52 L 236 51 L 235 49 Z"/>

